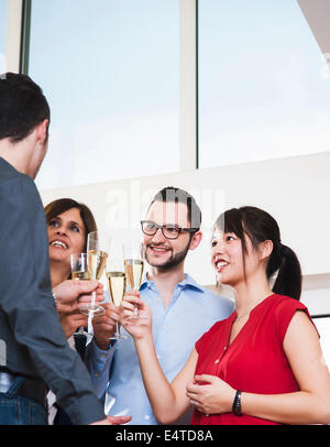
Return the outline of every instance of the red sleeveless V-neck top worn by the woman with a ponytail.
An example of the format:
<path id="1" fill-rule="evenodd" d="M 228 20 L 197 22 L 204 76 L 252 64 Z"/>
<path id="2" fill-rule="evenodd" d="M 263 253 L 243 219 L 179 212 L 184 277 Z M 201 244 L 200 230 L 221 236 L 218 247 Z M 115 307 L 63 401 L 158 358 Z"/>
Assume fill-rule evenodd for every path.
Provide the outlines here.
<path id="1" fill-rule="evenodd" d="M 216 323 L 197 342 L 196 374 L 211 374 L 235 390 L 256 394 L 280 394 L 299 390 L 283 349 L 287 327 L 296 310 L 307 307 L 288 296 L 273 294 L 256 305 L 241 331 L 228 346 L 231 326 L 237 317 Z M 311 319 L 311 318 L 310 318 Z M 193 425 L 277 424 L 233 413 L 206 416 L 196 408 Z"/>

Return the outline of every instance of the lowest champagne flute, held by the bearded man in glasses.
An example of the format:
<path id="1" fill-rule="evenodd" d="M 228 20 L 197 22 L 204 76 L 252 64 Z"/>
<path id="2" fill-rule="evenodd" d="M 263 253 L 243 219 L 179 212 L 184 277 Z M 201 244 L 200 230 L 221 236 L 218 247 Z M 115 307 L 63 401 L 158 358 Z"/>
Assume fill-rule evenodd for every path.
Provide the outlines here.
<path id="1" fill-rule="evenodd" d="M 119 260 L 113 260 L 110 261 L 109 263 L 109 271 L 106 273 L 107 279 L 108 279 L 108 284 L 109 284 L 109 293 L 112 303 L 116 306 L 120 305 L 120 302 L 122 301 L 125 288 L 127 288 L 127 275 L 124 272 L 124 265 L 123 261 Z M 116 323 L 116 332 L 113 334 L 110 339 L 112 340 L 121 340 L 128 338 L 124 335 L 120 334 L 120 326 L 119 323 Z"/>

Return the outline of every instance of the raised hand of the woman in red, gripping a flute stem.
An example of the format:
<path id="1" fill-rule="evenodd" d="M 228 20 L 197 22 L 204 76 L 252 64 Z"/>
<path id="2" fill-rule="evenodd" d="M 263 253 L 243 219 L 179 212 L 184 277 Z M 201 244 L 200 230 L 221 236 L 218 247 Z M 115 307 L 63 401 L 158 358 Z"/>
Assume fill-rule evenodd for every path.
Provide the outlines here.
<path id="1" fill-rule="evenodd" d="M 139 310 L 139 321 L 134 316 Z M 129 291 L 120 303 L 120 324 L 134 339 L 152 335 L 152 314 L 150 307 L 140 298 L 139 291 Z"/>

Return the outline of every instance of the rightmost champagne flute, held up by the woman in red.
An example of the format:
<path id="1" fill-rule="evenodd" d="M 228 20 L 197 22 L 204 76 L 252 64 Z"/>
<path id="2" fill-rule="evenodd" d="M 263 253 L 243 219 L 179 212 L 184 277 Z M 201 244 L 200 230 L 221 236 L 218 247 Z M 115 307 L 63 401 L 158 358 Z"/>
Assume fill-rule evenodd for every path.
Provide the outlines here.
<path id="1" fill-rule="evenodd" d="M 123 257 L 127 281 L 132 291 L 139 291 L 142 282 L 144 262 L 142 257 L 142 246 L 138 242 L 124 243 L 123 244 Z M 143 318 L 139 314 L 138 306 L 134 307 L 134 314 L 130 317 L 131 319 Z"/>

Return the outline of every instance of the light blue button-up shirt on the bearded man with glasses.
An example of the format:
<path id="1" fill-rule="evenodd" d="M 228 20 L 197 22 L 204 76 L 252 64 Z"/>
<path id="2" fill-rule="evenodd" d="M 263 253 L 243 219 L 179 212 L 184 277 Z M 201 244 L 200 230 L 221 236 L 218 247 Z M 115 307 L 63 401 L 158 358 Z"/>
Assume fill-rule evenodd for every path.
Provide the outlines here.
<path id="1" fill-rule="evenodd" d="M 201 335 L 234 309 L 231 299 L 199 286 L 187 274 L 176 285 L 167 308 L 154 282 L 146 276 L 140 294 L 151 308 L 156 355 L 169 382 L 182 370 Z M 108 351 L 100 350 L 94 340 L 87 347 L 86 364 L 95 389 L 100 397 L 106 391 L 106 414 L 130 415 L 130 424 L 135 425 L 158 424 L 144 390 L 133 338 L 122 327 L 121 332 L 128 338 L 116 341 Z M 189 422 L 188 412 L 178 423 Z"/>

